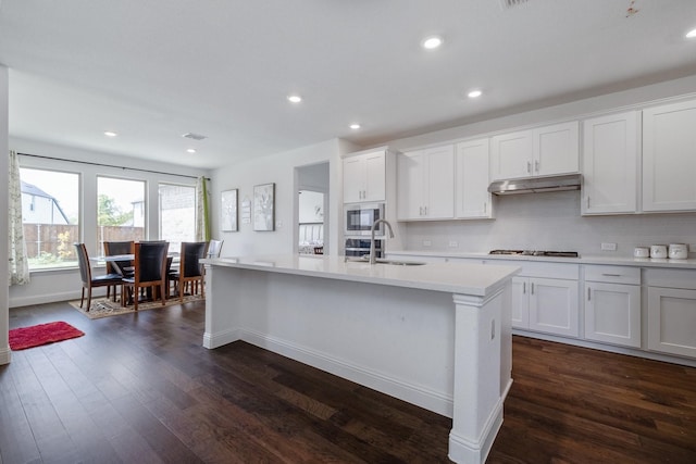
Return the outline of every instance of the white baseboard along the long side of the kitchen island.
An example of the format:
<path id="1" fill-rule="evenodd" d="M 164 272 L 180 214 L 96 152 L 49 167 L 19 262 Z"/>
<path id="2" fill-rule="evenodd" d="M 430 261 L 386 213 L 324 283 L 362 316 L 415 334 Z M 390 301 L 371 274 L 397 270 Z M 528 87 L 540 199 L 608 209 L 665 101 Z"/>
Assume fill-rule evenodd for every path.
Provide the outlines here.
<path id="1" fill-rule="evenodd" d="M 247 329 L 240 329 L 239 331 L 239 339 L 263 348 L 264 350 L 282 354 L 338 377 L 372 388 L 373 390 L 398 398 L 408 403 L 424 407 L 434 413 L 447 417 L 452 416 L 453 399 L 446 393 L 410 384 L 403 379 L 375 372 L 374 369 L 297 343 L 288 342 L 287 340 L 272 338 L 265 334 Z"/>

